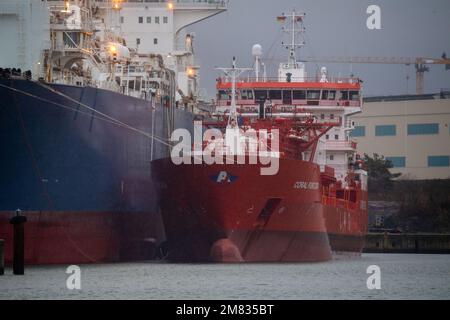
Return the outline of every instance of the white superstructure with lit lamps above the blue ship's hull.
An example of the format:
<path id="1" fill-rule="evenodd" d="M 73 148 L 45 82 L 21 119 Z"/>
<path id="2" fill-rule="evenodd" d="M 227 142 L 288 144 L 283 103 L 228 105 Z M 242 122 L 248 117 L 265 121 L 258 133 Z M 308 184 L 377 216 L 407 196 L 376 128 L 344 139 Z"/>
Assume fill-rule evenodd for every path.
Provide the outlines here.
<path id="1" fill-rule="evenodd" d="M 174 86 L 179 103 L 193 105 L 199 93 L 199 67 L 194 59 L 195 35 L 184 29 L 226 9 L 225 1 L 215 0 L 2 0 L 0 39 L 9 45 L 0 52 L 0 67 L 30 70 L 35 79 L 67 83 L 71 77 L 75 84 L 123 91 L 124 85 L 131 89 L 132 80 L 112 84 L 128 70 L 118 64 L 129 63 L 132 57 L 134 62 L 158 57 L 165 74 L 154 75 Z M 117 52 L 114 61 L 107 61 L 111 42 Z M 128 58 L 121 60 L 124 56 Z M 74 79 L 72 67 L 83 69 L 85 79 Z"/>

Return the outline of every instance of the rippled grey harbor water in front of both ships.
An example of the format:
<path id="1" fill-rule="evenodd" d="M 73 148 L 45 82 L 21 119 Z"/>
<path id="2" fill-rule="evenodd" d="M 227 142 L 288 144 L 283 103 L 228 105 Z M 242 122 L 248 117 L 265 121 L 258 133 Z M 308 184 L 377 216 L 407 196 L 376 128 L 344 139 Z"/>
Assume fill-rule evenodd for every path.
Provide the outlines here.
<path id="1" fill-rule="evenodd" d="M 379 267 L 380 289 L 368 289 L 369 266 Z M 364 254 L 302 264 L 80 265 L 81 289 L 72 290 L 67 267 L 29 266 L 24 276 L 6 268 L 0 299 L 450 299 L 450 255 Z"/>

